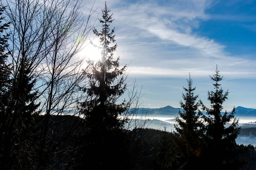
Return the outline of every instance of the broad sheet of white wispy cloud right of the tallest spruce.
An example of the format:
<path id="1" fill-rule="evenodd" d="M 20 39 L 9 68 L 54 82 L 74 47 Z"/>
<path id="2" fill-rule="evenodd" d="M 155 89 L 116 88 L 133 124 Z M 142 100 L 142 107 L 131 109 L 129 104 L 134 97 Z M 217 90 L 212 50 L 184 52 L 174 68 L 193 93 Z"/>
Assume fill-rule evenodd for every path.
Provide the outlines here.
<path id="1" fill-rule="evenodd" d="M 95 8 L 103 8 L 104 3 L 97 0 Z M 249 70 L 255 61 L 232 56 L 225 45 L 193 31 L 201 21 L 214 18 L 205 13 L 215 5 L 211 0 L 111 0 L 107 5 L 115 18 L 116 55 L 122 63 L 131 62 L 132 75 L 184 77 L 191 72 L 208 76 L 219 64 L 232 77 L 255 78 L 256 69 Z"/>

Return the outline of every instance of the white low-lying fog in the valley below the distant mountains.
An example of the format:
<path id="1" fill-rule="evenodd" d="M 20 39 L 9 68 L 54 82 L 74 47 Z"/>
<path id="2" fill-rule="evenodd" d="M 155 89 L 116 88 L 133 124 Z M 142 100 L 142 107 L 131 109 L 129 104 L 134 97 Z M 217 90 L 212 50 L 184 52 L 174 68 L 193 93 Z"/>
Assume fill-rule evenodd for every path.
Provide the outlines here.
<path id="1" fill-rule="evenodd" d="M 153 128 L 158 130 L 163 130 L 163 127 L 166 126 L 168 131 L 175 130 L 175 116 L 144 116 L 144 117 L 130 117 L 133 121 L 137 121 L 137 127 Z M 226 124 L 228 127 L 230 124 Z M 238 144 L 252 144 L 256 146 L 256 117 L 239 117 L 239 126 L 241 126 L 241 134 L 237 137 L 236 142 Z M 252 128 L 255 127 L 255 128 Z M 246 129 L 250 128 L 250 129 Z M 255 133 L 254 133 L 255 131 Z"/>

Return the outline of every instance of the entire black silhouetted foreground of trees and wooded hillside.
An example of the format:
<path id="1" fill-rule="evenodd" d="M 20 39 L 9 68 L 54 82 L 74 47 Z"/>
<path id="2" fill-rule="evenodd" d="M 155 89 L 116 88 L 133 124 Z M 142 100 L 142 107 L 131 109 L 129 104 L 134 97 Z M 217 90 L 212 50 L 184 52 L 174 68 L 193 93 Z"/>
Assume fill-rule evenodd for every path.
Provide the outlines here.
<path id="1" fill-rule="evenodd" d="M 221 114 L 228 92 L 218 68 L 210 108 L 189 75 L 175 131 L 147 129 L 136 119 L 145 116 L 136 112 L 140 92 L 128 89 L 126 65 L 114 58 L 111 11 L 105 5 L 97 30 L 94 11 L 84 20 L 81 7 L 79 0 L 1 1 L 1 170 L 256 168 L 255 147 L 236 144 L 235 108 Z M 91 31 L 102 58 L 83 65 L 77 53 Z"/>

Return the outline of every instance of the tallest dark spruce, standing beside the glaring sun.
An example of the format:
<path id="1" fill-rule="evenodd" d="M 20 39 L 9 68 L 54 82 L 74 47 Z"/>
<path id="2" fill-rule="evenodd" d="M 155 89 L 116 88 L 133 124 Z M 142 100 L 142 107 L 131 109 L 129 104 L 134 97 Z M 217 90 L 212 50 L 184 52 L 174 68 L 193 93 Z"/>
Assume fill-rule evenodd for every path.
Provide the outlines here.
<path id="1" fill-rule="evenodd" d="M 102 10 L 102 31 L 97 31 L 93 28 L 93 34 L 99 37 L 100 46 L 94 45 L 101 50 L 102 59 L 94 63 L 89 60 L 88 64 L 91 67 L 91 73 L 86 73 L 90 79 L 89 88 L 84 89 L 88 96 L 94 99 L 83 103 L 83 111 L 87 120 L 87 127 L 101 123 L 101 130 L 111 130 L 122 128 L 123 122 L 118 119 L 118 116 L 127 108 L 125 101 L 121 104 L 116 104 L 116 97 L 121 96 L 126 90 L 125 77 L 123 77 L 126 65 L 119 68 L 119 57 L 114 60 L 113 52 L 116 51 L 117 44 L 110 46 L 111 42 L 116 40 L 114 28 L 110 30 L 109 26 L 112 23 L 112 14 L 109 14 L 105 5 L 105 10 Z M 119 79 L 120 78 L 120 79 Z M 96 124 L 95 124 L 96 123 Z"/>

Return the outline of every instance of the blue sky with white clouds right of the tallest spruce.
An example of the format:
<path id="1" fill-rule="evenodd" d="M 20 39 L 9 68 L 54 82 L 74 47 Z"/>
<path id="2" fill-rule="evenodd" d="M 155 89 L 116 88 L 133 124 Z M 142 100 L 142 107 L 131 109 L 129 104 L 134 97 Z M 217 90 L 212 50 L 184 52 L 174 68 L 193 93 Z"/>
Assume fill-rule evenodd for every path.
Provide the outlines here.
<path id="1" fill-rule="evenodd" d="M 85 2 L 85 16 L 93 2 Z M 256 0 L 108 0 L 107 6 L 115 19 L 114 56 L 128 64 L 128 83 L 136 80 L 142 88 L 142 107 L 180 108 L 189 73 L 195 94 L 209 107 L 209 75 L 218 65 L 221 87 L 229 91 L 224 110 L 256 108 Z M 104 7 L 105 0 L 93 6 L 91 22 L 98 30 Z M 92 48 L 82 54 L 99 59 Z"/>

